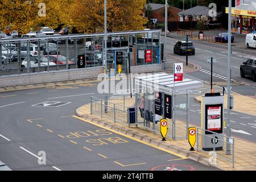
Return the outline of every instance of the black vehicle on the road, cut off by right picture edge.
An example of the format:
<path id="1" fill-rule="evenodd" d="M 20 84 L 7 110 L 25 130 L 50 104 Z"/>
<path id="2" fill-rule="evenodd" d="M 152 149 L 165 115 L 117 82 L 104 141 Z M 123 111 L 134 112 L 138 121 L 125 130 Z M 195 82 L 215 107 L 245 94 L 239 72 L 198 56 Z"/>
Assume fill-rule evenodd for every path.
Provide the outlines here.
<path id="1" fill-rule="evenodd" d="M 242 78 L 252 76 L 253 81 L 256 81 L 256 58 L 248 59 L 240 65 L 240 75 Z"/>

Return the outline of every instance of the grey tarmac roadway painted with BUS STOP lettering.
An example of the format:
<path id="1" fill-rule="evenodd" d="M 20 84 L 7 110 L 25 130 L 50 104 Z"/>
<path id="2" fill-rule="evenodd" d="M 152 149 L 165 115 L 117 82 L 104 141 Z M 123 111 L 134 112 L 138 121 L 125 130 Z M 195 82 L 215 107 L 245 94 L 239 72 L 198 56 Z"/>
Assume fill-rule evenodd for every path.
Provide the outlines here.
<path id="1" fill-rule="evenodd" d="M 13 170 L 218 170 L 73 118 L 96 94 L 97 85 L 6 92 L 0 98 L 1 161 Z M 32 106 L 46 101 L 71 103 Z M 39 151 L 46 152 L 46 165 L 38 164 Z"/>

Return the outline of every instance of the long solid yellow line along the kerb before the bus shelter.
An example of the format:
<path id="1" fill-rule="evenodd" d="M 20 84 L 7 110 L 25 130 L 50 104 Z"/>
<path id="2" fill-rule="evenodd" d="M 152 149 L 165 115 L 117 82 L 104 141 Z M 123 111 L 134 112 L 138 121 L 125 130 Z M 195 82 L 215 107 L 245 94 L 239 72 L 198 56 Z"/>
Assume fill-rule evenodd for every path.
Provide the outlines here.
<path id="1" fill-rule="evenodd" d="M 140 142 L 140 143 L 146 144 L 147 146 L 157 148 L 158 150 L 162 150 L 162 151 L 167 152 L 167 153 L 169 153 L 169 154 L 176 155 L 176 156 L 178 156 L 178 157 L 180 157 L 180 158 L 183 158 L 183 159 L 188 159 L 188 158 L 187 158 L 186 156 L 184 156 L 184 155 L 176 154 L 175 152 L 166 150 L 165 148 L 161 148 L 161 147 L 158 147 L 158 146 L 154 146 L 154 145 L 151 144 L 151 143 L 147 143 L 147 142 L 144 142 L 144 141 L 139 140 L 139 139 L 137 139 L 137 138 L 130 137 L 129 135 L 120 133 L 119 131 L 115 131 L 115 130 L 109 129 L 108 127 L 105 127 L 105 126 L 98 125 L 97 123 L 93 123 L 93 122 L 91 122 L 91 121 L 88 121 L 88 120 L 86 120 L 86 119 L 84 119 L 84 118 L 81 118 L 81 117 L 78 117 L 78 116 L 76 116 L 76 115 L 73 115 L 73 117 L 74 117 L 74 118 L 77 118 L 77 119 L 80 119 L 81 121 L 90 123 L 90 124 L 92 124 L 92 125 L 101 127 L 102 129 L 109 130 L 109 131 L 111 131 L 111 132 L 113 132 L 113 133 L 116 133 L 116 134 L 118 134 L 118 135 L 122 135 L 123 137 L 130 138 L 130 139 L 132 139 L 132 140 L 135 140 L 136 142 Z"/>

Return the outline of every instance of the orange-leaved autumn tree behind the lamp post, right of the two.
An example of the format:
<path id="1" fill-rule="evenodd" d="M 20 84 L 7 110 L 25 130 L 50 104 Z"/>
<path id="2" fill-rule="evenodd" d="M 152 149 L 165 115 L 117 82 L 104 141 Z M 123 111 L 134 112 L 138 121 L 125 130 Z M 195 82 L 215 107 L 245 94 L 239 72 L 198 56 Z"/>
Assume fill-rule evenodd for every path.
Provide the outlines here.
<path id="1" fill-rule="evenodd" d="M 143 16 L 146 0 L 108 0 L 108 31 L 142 30 L 147 18 Z M 104 31 L 104 0 L 77 0 L 69 16 L 80 32 Z"/>

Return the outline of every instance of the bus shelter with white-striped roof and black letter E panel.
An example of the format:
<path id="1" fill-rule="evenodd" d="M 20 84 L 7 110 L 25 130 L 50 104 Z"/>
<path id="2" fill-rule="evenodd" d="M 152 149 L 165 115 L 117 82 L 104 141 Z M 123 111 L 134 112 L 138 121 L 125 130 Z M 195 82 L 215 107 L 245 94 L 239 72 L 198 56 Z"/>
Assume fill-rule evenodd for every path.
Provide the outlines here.
<path id="1" fill-rule="evenodd" d="M 172 139 L 181 138 L 175 135 L 175 124 L 176 124 L 176 96 L 178 93 L 183 93 L 186 95 L 186 104 L 184 108 L 186 109 L 186 130 L 189 125 L 189 93 L 192 92 L 191 89 L 199 88 L 203 86 L 203 82 L 192 80 L 189 78 L 183 78 L 183 81 L 175 81 L 174 75 L 167 73 L 155 73 L 150 75 L 135 77 L 135 93 L 137 93 L 135 101 L 135 109 L 143 113 L 144 126 L 150 128 L 150 122 L 145 121 L 147 113 L 152 115 L 152 129 L 155 130 L 155 124 L 158 119 L 156 115 L 162 116 L 162 118 L 169 118 L 172 121 Z M 143 108 L 139 107 L 141 94 L 143 97 Z M 142 98 L 141 97 L 141 98 Z M 138 114 L 136 118 L 136 123 L 138 123 Z M 138 126 L 138 125 L 137 125 Z M 188 133 L 183 136 L 187 139 Z M 182 138 L 183 138 L 182 137 Z"/>

